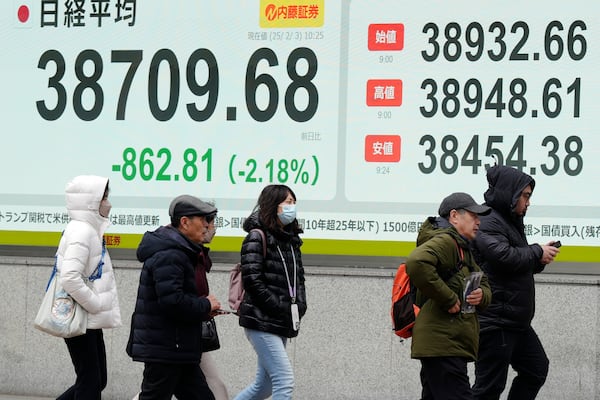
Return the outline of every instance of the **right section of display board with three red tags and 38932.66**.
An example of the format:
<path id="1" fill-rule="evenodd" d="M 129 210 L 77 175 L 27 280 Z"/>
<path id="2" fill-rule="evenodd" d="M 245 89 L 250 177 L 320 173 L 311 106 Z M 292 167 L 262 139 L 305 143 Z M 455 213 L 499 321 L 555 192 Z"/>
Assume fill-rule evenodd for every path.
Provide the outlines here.
<path id="1" fill-rule="evenodd" d="M 539 181 L 535 205 L 598 205 L 593 192 L 575 195 L 600 173 L 596 3 L 433 2 L 420 10 L 378 4 L 350 6 L 348 63 L 363 66 L 350 69 L 348 80 L 347 164 L 353 181 L 363 183 L 346 185 L 350 200 L 395 202 L 364 190 L 391 180 L 419 185 L 418 194 L 403 193 L 409 199 L 472 191 L 497 161 Z M 402 12 L 381 11 L 392 8 Z M 402 48 L 367 48 L 373 24 L 401 32 L 395 40 Z M 355 93 L 368 80 L 383 88 L 400 80 L 401 105 L 365 108 Z M 399 137 L 399 162 L 389 169 L 353 163 L 365 153 L 366 134 Z"/>

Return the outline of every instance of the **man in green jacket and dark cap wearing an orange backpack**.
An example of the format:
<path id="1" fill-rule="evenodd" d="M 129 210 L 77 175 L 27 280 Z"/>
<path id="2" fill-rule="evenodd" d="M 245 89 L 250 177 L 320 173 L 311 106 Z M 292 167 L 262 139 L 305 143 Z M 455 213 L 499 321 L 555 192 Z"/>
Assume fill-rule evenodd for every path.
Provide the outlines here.
<path id="1" fill-rule="evenodd" d="M 479 287 L 467 290 L 465 297 L 472 274 L 481 272 L 469 242 L 479 229 L 479 216 L 490 211 L 466 193 L 452 193 L 440 204 L 440 216 L 424 222 L 417 248 L 406 260 L 422 305 L 411 347 L 412 358 L 421 361 L 422 400 L 472 399 L 467 363 L 477 357 L 479 321 L 465 306 L 484 309 L 492 291 L 483 275 Z"/>

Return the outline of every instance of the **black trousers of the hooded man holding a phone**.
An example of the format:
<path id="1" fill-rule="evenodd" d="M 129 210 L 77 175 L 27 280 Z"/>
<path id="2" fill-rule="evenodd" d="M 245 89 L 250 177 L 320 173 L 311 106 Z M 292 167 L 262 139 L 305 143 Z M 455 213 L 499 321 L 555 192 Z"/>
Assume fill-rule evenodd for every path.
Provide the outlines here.
<path id="1" fill-rule="evenodd" d="M 473 394 L 478 400 L 497 400 L 504 391 L 508 366 L 517 376 L 508 400 L 535 399 L 548 375 L 548 357 L 532 327 L 524 331 L 493 330 L 479 335 Z"/>

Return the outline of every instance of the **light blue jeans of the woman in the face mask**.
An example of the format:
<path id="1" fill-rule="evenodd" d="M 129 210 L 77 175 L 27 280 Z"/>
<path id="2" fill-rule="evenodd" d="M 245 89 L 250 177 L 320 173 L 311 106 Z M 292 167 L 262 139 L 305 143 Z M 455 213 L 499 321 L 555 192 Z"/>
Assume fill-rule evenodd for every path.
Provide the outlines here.
<path id="1" fill-rule="evenodd" d="M 244 328 L 248 341 L 258 356 L 256 378 L 234 400 L 272 400 L 292 398 L 294 372 L 285 351 L 287 339 L 268 332 Z"/>

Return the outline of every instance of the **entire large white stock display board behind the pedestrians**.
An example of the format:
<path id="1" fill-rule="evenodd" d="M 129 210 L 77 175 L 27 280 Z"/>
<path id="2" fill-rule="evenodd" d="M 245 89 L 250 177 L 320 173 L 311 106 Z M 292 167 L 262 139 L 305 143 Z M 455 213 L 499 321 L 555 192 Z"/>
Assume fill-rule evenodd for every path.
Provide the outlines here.
<path id="1" fill-rule="evenodd" d="M 117 234 L 190 193 L 239 236 L 284 183 L 306 238 L 412 242 L 499 162 L 537 181 L 530 241 L 600 245 L 600 3 L 0 4 L 0 230 L 60 231 L 90 173 Z"/>

